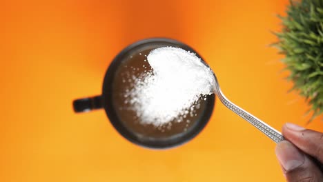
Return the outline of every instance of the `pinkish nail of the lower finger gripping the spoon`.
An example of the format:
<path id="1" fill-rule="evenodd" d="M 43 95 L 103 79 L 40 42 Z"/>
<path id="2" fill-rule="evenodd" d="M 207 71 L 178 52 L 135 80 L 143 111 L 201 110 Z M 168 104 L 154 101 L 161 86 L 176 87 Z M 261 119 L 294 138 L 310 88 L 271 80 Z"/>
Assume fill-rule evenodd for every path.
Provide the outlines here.
<path id="1" fill-rule="evenodd" d="M 304 163 L 304 154 L 289 141 L 278 143 L 275 152 L 280 165 L 286 172 L 294 170 Z"/>

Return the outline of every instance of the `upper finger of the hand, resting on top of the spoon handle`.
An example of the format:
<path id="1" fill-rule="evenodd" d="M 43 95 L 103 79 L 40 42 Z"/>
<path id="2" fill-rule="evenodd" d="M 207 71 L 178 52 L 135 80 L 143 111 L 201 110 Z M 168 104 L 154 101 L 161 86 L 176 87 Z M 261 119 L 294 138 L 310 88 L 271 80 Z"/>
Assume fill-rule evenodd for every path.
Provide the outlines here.
<path id="1" fill-rule="evenodd" d="M 306 130 L 299 125 L 286 123 L 282 128 L 282 134 L 297 148 L 304 151 L 323 163 L 323 134 L 313 130 Z"/>

